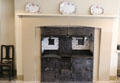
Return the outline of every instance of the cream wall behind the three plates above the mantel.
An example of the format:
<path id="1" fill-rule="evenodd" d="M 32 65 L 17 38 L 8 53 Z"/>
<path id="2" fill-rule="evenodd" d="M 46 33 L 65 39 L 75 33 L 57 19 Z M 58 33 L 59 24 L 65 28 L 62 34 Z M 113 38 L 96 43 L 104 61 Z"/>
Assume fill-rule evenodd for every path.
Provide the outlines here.
<path id="1" fill-rule="evenodd" d="M 35 2 L 40 5 L 41 13 L 59 13 L 59 4 L 62 1 L 72 1 L 77 6 L 77 13 L 88 14 L 89 7 L 94 3 L 102 4 L 105 14 L 115 14 L 118 9 L 119 0 L 15 0 L 16 11 L 24 12 L 27 2 Z"/>

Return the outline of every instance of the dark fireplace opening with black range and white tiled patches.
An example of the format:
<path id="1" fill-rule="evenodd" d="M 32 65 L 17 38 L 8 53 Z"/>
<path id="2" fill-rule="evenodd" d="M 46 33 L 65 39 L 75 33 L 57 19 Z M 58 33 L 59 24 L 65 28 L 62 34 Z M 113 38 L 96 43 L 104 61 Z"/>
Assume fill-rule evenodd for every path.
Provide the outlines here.
<path id="1" fill-rule="evenodd" d="M 41 81 L 93 80 L 94 28 L 41 27 Z"/>

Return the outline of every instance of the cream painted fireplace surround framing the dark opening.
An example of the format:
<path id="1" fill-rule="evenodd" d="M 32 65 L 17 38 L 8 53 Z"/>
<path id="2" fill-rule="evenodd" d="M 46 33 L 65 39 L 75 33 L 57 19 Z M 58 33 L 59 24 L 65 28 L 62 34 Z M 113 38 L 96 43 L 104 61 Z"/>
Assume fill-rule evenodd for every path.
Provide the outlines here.
<path id="1" fill-rule="evenodd" d="M 40 26 L 88 26 L 96 28 L 93 81 L 116 79 L 118 22 L 115 16 L 16 14 L 17 74 L 40 81 Z"/>

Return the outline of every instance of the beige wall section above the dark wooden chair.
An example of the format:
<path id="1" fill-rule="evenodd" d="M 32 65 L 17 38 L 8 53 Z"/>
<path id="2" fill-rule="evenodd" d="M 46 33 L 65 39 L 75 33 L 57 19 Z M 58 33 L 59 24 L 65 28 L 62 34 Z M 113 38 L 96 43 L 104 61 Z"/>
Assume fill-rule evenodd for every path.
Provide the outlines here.
<path id="1" fill-rule="evenodd" d="M 14 0 L 0 0 L 0 45 L 14 44 Z"/>

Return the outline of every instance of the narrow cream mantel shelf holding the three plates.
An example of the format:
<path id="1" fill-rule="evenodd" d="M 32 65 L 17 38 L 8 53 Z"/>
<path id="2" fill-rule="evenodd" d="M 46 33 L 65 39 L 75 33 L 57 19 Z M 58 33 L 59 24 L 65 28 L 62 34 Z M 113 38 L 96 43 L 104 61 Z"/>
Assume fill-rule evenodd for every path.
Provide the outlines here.
<path id="1" fill-rule="evenodd" d="M 118 15 L 62 15 L 62 14 L 35 14 L 35 13 L 17 13 L 20 17 L 80 17 L 80 18 L 103 18 L 103 19 L 116 19 L 119 18 Z"/>

